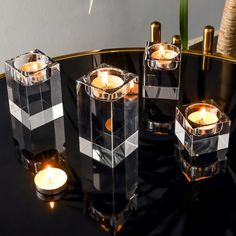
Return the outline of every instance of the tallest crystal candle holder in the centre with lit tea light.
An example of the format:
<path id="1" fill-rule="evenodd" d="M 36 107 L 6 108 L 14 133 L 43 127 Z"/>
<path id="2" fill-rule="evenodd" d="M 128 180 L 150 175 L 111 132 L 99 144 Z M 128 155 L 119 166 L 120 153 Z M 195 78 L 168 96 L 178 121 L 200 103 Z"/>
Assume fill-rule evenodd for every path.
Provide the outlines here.
<path id="1" fill-rule="evenodd" d="M 80 152 L 111 168 L 138 148 L 138 76 L 106 64 L 77 80 Z"/>

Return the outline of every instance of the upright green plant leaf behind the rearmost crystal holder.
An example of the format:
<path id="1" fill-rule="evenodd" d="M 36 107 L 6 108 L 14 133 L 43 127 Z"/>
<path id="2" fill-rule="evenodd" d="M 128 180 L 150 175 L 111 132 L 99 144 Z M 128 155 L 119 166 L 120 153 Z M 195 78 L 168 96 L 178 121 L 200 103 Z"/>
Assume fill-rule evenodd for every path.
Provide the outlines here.
<path id="1" fill-rule="evenodd" d="M 183 49 L 188 49 L 188 0 L 180 0 L 179 27 Z"/>

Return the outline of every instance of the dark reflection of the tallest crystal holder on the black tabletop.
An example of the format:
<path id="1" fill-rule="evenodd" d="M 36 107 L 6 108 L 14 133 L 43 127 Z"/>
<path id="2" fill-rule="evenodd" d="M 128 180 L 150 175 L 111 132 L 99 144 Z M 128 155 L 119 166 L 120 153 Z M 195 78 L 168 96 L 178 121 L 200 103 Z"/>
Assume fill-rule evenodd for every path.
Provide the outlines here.
<path id="1" fill-rule="evenodd" d="M 100 227 L 116 235 L 137 209 L 138 157 L 133 154 L 115 168 L 86 156 L 80 163 L 85 210 Z"/>

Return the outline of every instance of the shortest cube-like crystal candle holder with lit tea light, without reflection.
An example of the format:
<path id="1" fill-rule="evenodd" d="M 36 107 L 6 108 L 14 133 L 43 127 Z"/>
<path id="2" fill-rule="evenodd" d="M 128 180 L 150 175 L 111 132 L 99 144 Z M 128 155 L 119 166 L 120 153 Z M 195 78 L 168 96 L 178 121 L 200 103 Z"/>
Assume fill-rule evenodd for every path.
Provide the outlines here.
<path id="1" fill-rule="evenodd" d="M 176 107 L 175 134 L 190 156 L 228 148 L 230 119 L 212 101 Z"/>

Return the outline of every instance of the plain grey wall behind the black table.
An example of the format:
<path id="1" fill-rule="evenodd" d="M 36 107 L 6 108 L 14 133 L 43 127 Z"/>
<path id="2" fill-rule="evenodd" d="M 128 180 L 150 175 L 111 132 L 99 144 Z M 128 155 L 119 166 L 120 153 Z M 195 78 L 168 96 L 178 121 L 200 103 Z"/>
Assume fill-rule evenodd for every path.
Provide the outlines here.
<path id="1" fill-rule="evenodd" d="M 223 0 L 189 0 L 189 36 L 219 28 Z M 144 46 L 149 24 L 163 39 L 179 33 L 179 0 L 0 0 L 0 72 L 6 59 L 34 48 L 50 56 L 91 49 Z"/>

